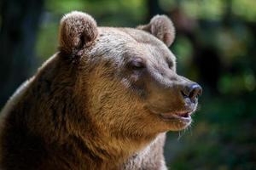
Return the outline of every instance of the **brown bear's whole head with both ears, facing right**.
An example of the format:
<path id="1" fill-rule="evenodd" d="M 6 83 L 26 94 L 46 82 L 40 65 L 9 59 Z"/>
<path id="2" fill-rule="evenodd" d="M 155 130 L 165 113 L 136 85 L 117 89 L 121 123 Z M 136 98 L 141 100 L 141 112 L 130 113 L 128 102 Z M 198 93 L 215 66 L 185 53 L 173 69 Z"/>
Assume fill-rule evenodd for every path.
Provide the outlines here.
<path id="1" fill-rule="evenodd" d="M 61 62 L 96 128 L 112 137 L 152 137 L 189 126 L 201 87 L 177 75 L 168 47 L 175 29 L 165 15 L 137 28 L 98 27 L 89 14 L 61 20 Z M 72 113 L 70 113 L 72 114 Z M 77 113 L 76 113 L 77 114 Z M 75 116 L 75 115 L 74 115 Z"/>

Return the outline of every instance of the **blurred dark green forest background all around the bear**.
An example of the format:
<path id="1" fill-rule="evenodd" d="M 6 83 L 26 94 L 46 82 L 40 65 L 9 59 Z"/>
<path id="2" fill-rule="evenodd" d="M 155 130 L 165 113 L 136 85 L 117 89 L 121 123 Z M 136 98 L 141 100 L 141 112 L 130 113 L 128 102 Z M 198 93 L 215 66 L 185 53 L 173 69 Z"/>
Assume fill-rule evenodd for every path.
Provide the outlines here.
<path id="1" fill-rule="evenodd" d="M 168 167 L 256 169 L 256 1 L 1 0 L 0 108 L 55 53 L 59 20 L 72 10 L 98 26 L 134 27 L 168 15 L 177 29 L 177 72 L 204 88 L 192 127 L 168 133 Z"/>

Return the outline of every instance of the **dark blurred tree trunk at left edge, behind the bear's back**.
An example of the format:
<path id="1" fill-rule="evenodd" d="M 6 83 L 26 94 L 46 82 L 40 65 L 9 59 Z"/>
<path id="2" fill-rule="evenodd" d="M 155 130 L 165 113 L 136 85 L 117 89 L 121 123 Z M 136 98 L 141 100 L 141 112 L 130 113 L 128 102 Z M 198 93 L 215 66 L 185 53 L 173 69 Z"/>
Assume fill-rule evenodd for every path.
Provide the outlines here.
<path id="1" fill-rule="evenodd" d="M 0 109 L 34 64 L 34 47 L 44 0 L 2 0 L 0 4 Z"/>

